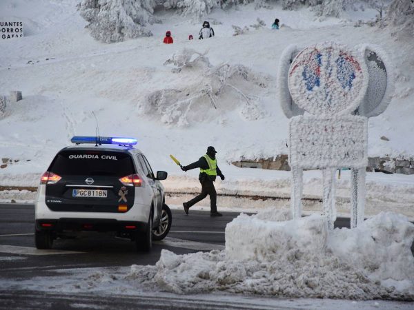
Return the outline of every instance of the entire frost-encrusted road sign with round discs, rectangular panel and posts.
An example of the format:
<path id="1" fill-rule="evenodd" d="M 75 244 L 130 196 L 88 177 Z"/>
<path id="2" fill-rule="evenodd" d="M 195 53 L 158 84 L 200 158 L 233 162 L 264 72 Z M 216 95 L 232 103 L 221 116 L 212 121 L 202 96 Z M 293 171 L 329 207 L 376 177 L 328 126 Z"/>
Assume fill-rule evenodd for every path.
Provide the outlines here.
<path id="1" fill-rule="evenodd" d="M 289 123 L 293 218 L 302 216 L 304 169 L 322 169 L 323 211 L 333 229 L 335 172 L 351 168 L 351 227 L 364 220 L 368 117 L 391 99 L 384 53 L 368 45 L 351 50 L 333 42 L 282 54 L 279 94 Z M 304 112 L 310 115 L 303 115 Z"/>

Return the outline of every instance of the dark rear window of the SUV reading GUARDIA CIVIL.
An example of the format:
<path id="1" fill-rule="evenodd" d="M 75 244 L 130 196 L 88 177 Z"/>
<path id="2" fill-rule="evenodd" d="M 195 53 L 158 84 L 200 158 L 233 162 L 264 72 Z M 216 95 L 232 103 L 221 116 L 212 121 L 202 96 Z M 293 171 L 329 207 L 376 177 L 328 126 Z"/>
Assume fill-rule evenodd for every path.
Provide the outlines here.
<path id="1" fill-rule="evenodd" d="M 135 168 L 127 153 L 67 150 L 57 154 L 49 171 L 61 176 L 127 176 Z"/>

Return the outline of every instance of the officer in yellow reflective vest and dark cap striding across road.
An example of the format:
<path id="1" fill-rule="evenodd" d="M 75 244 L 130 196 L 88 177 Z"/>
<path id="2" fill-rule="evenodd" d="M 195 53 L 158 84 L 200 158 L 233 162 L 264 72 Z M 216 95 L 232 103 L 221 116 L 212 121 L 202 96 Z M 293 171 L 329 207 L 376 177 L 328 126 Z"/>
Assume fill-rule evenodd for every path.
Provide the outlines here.
<path id="1" fill-rule="evenodd" d="M 188 209 L 210 196 L 210 216 L 221 216 L 222 214 L 217 212 L 217 193 L 214 187 L 214 181 L 216 176 L 219 176 L 221 180 L 224 180 L 224 175 L 221 173 L 219 167 L 217 166 L 217 159 L 215 158 L 216 150 L 214 147 L 207 147 L 207 154 L 201 156 L 198 161 L 191 163 L 188 166 L 183 166 L 181 169 L 183 171 L 200 168 L 199 181 L 201 183 L 201 194 L 191 199 L 190 201 L 183 203 L 184 211 L 188 214 Z"/>

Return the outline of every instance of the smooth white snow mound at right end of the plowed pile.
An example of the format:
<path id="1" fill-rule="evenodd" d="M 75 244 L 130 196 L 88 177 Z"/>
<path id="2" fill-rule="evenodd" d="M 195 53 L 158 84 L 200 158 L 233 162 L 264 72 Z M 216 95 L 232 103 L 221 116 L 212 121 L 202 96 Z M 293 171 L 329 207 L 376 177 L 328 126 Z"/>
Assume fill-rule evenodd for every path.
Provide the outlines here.
<path id="1" fill-rule="evenodd" d="M 411 280 L 413 285 L 413 240 L 414 225 L 405 216 L 382 212 L 356 229 L 335 229 L 327 245 L 342 261 L 364 269 L 371 280 Z"/>

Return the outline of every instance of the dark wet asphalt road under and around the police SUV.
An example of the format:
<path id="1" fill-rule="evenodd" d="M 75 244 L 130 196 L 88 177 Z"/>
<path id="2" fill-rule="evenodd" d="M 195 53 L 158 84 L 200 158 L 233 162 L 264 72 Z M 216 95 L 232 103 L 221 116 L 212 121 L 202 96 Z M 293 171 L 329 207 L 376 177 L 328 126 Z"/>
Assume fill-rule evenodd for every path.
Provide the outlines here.
<path id="1" fill-rule="evenodd" d="M 186 254 L 211 249 L 224 249 L 226 224 L 239 213 L 223 212 L 211 218 L 208 211 L 172 210 L 172 227 L 165 241 L 158 242 L 149 254 L 137 253 L 130 240 L 107 234 L 91 234 L 76 240 L 55 240 L 53 250 L 34 248 L 34 205 L 0 205 L 0 280 L 32 279 L 57 276 L 57 269 L 87 267 L 123 267 L 155 265 L 161 249 Z M 349 219 L 339 218 L 339 227 L 348 227 Z M 18 259 L 24 258 L 24 259 Z M 47 301 L 45 303 L 45 300 Z M 188 296 L 72 296 L 68 293 L 0 290 L 0 309 L 195 309 Z M 77 306 L 73 308 L 73 304 Z M 286 309 L 285 307 L 253 307 L 253 304 L 197 300 L 198 309 Z M 79 306 L 79 304 L 81 306 Z M 299 308 L 296 308 L 299 309 Z"/>

